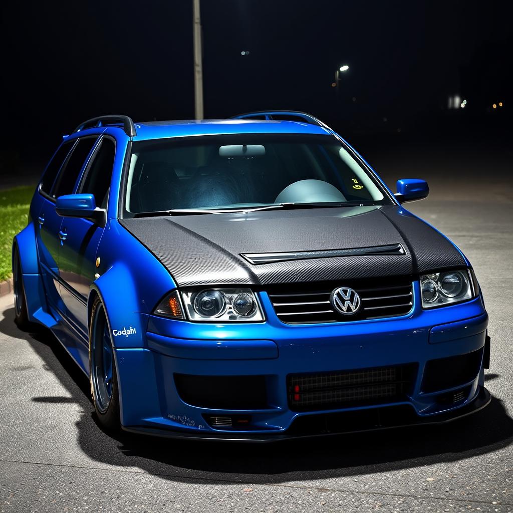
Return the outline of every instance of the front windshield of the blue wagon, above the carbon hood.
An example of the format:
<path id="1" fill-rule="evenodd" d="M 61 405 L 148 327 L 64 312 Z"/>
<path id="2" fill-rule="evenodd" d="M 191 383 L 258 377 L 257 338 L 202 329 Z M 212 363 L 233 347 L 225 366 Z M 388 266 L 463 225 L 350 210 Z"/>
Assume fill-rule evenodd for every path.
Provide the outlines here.
<path id="1" fill-rule="evenodd" d="M 389 205 L 331 135 L 239 134 L 134 142 L 124 210 L 248 209 L 285 204 Z"/>

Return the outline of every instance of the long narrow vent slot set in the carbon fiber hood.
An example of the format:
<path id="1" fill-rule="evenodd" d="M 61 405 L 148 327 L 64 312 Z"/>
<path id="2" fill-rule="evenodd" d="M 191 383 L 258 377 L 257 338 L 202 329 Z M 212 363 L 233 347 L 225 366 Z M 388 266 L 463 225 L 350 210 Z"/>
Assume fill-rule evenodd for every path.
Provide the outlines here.
<path id="1" fill-rule="evenodd" d="M 334 257 L 355 257 L 362 255 L 404 255 L 401 244 L 388 244 L 386 246 L 371 246 L 368 248 L 328 249 L 324 251 L 293 251 L 288 253 L 241 253 L 241 257 L 250 264 L 271 264 L 274 262 L 287 262 L 290 260 L 309 260 Z"/>

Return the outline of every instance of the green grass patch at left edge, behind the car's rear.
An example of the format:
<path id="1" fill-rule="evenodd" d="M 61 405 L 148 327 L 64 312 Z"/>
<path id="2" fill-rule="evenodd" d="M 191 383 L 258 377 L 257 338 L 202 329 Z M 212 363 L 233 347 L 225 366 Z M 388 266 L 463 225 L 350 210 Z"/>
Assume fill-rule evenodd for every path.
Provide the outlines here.
<path id="1" fill-rule="evenodd" d="M 33 185 L 0 190 L 0 282 L 12 274 L 12 239 L 27 226 L 33 195 Z"/>

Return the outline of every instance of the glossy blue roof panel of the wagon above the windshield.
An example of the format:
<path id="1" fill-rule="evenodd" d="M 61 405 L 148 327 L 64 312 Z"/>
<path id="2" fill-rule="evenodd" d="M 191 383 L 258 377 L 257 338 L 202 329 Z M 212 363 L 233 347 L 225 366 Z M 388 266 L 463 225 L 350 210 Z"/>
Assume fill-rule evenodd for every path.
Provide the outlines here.
<path id="1" fill-rule="evenodd" d="M 321 126 L 299 121 L 278 120 L 179 120 L 135 123 L 134 141 L 240 133 L 330 134 Z"/>

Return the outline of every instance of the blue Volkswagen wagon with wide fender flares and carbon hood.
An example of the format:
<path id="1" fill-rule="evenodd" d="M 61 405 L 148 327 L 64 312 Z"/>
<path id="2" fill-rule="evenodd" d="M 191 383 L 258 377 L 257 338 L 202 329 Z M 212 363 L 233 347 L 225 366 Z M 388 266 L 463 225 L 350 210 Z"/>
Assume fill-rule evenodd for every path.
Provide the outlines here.
<path id="1" fill-rule="evenodd" d="M 269 441 L 442 423 L 490 401 L 472 267 L 315 117 L 89 120 L 15 236 L 16 322 L 50 328 L 107 429 Z"/>

